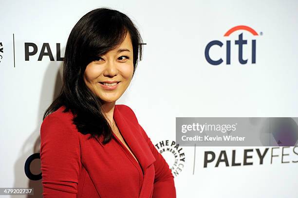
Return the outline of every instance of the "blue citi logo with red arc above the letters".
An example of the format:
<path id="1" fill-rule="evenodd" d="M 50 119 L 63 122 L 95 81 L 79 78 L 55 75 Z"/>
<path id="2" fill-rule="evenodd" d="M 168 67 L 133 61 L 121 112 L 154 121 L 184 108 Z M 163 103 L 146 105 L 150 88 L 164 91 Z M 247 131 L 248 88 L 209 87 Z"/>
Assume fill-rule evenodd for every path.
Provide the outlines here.
<path id="1" fill-rule="evenodd" d="M 223 36 L 230 36 L 233 32 L 238 30 L 248 31 L 253 36 L 259 36 L 254 29 L 245 25 L 239 25 L 229 29 Z M 246 64 L 247 62 L 248 63 L 251 62 L 252 64 L 255 64 L 256 63 L 256 44 L 257 44 L 256 40 L 255 39 L 251 40 L 251 58 L 249 61 L 248 61 L 248 58 L 243 59 L 243 45 L 246 45 L 246 44 L 247 44 L 247 40 L 243 39 L 243 33 L 241 33 L 238 36 L 238 40 L 235 40 L 235 45 L 236 46 L 238 45 L 238 60 L 241 64 Z M 210 54 L 209 54 L 209 51 L 211 48 L 219 46 L 220 48 L 223 47 L 226 50 L 225 64 L 226 65 L 231 64 L 231 40 L 226 40 L 225 46 L 223 45 L 224 45 L 223 42 L 219 40 L 212 40 L 207 44 L 205 48 L 205 58 L 208 63 L 210 63 L 211 65 L 220 65 L 223 63 L 223 58 L 214 60 L 210 57 Z"/>

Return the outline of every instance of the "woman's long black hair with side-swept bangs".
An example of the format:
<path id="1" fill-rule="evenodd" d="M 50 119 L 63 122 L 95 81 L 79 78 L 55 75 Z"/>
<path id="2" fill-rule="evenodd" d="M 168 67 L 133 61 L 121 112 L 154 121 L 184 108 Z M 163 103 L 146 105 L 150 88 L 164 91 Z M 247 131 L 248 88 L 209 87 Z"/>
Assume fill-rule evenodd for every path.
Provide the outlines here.
<path id="1" fill-rule="evenodd" d="M 112 128 L 102 113 L 102 101 L 88 89 L 83 74 L 87 65 L 120 45 L 127 32 L 133 48 L 133 74 L 138 58 L 142 59 L 142 38 L 130 18 L 111 8 L 101 7 L 84 15 L 72 29 L 65 48 L 62 88 L 47 108 L 43 120 L 61 106 L 75 115 L 73 124 L 90 138 L 103 136 L 103 144 L 110 142 Z M 132 76 L 133 76 L 132 74 Z"/>

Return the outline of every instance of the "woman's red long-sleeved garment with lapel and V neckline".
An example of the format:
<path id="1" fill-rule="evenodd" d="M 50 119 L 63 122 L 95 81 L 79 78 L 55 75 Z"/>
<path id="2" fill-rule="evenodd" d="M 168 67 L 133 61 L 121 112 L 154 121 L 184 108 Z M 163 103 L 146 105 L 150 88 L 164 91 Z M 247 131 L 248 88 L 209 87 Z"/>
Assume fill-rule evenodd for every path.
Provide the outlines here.
<path id="1" fill-rule="evenodd" d="M 168 163 L 139 125 L 134 112 L 115 105 L 113 118 L 125 145 L 89 139 L 72 123 L 62 106 L 40 127 L 40 161 L 45 198 L 176 198 Z"/>

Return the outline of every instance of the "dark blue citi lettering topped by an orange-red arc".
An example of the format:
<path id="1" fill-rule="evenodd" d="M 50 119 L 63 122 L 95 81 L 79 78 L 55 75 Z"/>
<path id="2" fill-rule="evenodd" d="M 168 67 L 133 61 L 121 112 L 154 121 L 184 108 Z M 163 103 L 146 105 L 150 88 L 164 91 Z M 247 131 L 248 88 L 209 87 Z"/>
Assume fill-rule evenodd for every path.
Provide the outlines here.
<path id="1" fill-rule="evenodd" d="M 247 39 L 244 38 L 243 32 L 246 31 L 250 33 L 250 37 Z M 257 41 L 255 36 L 259 36 L 259 34 L 251 27 L 245 25 L 238 25 L 231 29 L 229 29 L 223 36 L 228 38 L 232 33 L 237 32 L 239 33 L 238 39 L 235 41 L 232 40 L 225 40 L 225 43 L 220 40 L 212 40 L 210 41 L 205 47 L 205 59 L 211 65 L 220 65 L 220 64 L 231 64 L 231 49 L 237 50 L 238 48 L 238 61 L 241 64 L 255 64 L 256 63 L 256 46 Z M 250 42 L 250 43 L 248 43 Z M 250 54 L 243 54 L 243 48 L 248 47 L 246 45 L 250 45 L 251 49 L 248 50 Z M 210 50 L 212 48 L 221 48 L 221 54 L 212 54 Z M 225 57 L 224 57 L 225 51 Z M 247 51 L 246 51 L 247 52 Z M 244 58 L 248 57 L 248 58 Z"/>

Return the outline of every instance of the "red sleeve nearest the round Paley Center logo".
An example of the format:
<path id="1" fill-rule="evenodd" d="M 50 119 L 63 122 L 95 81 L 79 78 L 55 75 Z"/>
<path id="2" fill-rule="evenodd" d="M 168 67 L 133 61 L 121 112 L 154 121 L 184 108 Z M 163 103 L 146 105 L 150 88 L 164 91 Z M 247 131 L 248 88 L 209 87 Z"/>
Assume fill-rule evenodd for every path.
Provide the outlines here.
<path id="1" fill-rule="evenodd" d="M 168 163 L 152 144 L 143 127 L 141 125 L 139 127 L 156 159 L 154 162 L 155 178 L 152 198 L 176 198 L 174 176 Z"/>

